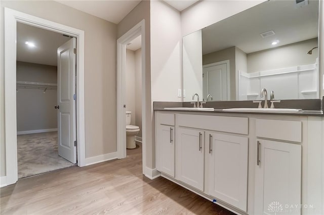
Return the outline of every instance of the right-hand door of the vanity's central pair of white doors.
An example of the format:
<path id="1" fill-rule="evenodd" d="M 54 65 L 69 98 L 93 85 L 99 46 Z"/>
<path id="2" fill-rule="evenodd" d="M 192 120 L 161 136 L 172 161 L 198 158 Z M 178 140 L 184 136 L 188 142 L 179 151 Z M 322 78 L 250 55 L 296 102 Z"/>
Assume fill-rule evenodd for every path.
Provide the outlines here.
<path id="1" fill-rule="evenodd" d="M 207 133 L 208 194 L 247 211 L 248 146 L 247 137 Z"/>

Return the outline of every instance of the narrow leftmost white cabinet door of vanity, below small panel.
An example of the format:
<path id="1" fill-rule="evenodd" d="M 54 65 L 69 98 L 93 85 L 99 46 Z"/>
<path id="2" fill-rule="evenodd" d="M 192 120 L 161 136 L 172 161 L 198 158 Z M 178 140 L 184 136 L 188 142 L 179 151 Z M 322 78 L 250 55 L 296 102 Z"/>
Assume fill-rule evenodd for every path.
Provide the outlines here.
<path id="1" fill-rule="evenodd" d="M 158 125 L 156 131 L 157 170 L 175 177 L 174 126 Z"/>

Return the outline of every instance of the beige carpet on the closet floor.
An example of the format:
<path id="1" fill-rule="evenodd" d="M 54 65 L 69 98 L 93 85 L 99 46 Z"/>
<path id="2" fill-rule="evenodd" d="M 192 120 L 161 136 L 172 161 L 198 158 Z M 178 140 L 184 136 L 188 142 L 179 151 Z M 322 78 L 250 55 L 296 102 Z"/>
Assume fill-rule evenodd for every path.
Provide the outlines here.
<path id="1" fill-rule="evenodd" d="M 18 135 L 18 179 L 73 166 L 57 152 L 57 132 Z"/>

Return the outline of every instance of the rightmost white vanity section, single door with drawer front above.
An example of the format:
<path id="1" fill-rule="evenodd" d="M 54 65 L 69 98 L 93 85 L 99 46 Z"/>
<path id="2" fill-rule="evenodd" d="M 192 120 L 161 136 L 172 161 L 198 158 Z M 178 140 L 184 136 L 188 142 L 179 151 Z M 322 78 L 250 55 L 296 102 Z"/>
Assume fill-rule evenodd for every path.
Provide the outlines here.
<path id="1" fill-rule="evenodd" d="M 301 129 L 301 121 L 256 119 L 255 214 L 301 214 Z"/>

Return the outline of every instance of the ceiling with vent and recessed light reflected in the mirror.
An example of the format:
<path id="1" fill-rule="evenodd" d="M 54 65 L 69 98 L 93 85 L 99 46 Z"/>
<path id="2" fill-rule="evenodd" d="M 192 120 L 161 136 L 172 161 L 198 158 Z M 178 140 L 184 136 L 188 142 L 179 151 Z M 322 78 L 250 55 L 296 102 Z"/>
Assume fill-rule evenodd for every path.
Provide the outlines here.
<path id="1" fill-rule="evenodd" d="M 317 37 L 318 1 L 297 8 L 295 1 L 269 1 L 202 30 L 203 54 L 238 47 L 253 53 Z M 274 30 L 262 38 L 260 33 Z M 273 40 L 279 40 L 276 46 Z M 305 53 L 307 50 L 305 50 Z"/>

